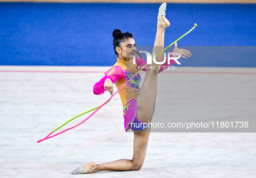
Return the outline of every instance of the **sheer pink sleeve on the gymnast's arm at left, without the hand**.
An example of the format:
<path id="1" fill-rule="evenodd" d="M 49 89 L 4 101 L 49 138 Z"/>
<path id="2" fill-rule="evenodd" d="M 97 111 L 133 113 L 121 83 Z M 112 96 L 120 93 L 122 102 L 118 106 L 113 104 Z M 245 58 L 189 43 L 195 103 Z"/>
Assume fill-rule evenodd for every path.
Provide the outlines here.
<path id="1" fill-rule="evenodd" d="M 114 70 L 107 75 L 107 73 L 113 69 Z M 93 93 L 96 95 L 104 94 L 105 88 L 104 88 L 104 82 L 107 78 L 110 78 L 112 83 L 116 83 L 120 78 L 123 77 L 123 69 L 120 66 L 114 66 L 111 69 L 109 69 L 107 72 L 105 72 L 105 76 L 100 79 L 96 84 L 93 86 Z"/>

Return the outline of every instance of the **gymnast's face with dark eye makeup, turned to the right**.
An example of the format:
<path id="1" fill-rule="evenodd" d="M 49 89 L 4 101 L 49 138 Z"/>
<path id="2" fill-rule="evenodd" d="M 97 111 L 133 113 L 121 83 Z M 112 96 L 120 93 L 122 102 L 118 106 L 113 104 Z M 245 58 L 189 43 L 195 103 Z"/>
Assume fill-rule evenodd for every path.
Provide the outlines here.
<path id="1" fill-rule="evenodd" d="M 121 47 L 117 50 L 118 58 L 125 60 L 133 59 L 133 50 L 136 51 L 135 40 L 130 37 L 127 41 L 121 44 Z M 118 47 L 117 47 L 118 48 Z"/>

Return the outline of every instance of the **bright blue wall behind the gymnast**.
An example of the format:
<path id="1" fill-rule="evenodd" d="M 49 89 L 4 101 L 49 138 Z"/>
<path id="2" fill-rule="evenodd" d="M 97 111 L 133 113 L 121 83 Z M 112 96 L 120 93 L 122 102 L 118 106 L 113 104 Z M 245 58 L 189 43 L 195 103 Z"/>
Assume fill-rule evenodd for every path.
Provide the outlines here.
<path id="1" fill-rule="evenodd" d="M 0 65 L 112 66 L 113 30 L 132 33 L 137 46 L 152 46 L 159 5 L 0 3 Z M 166 14 L 166 46 L 194 23 L 178 46 L 256 46 L 256 5 L 167 4 Z M 205 60 L 192 56 L 181 64 L 256 67 L 253 54 L 244 62 Z"/>

